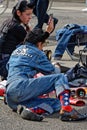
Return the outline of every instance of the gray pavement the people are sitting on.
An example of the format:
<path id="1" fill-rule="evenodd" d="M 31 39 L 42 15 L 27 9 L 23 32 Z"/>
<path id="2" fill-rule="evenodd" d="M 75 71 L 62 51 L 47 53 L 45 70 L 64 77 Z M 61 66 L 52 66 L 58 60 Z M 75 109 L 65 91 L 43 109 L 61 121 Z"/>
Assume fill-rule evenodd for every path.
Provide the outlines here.
<path id="1" fill-rule="evenodd" d="M 0 16 L 0 25 L 2 22 L 11 16 L 11 7 L 14 3 L 11 2 L 9 9 Z M 55 8 L 54 8 L 55 7 Z M 55 28 L 55 31 L 49 38 L 49 44 L 45 49 L 51 49 L 54 52 L 56 46 L 55 32 L 63 27 L 65 24 L 76 23 L 81 25 L 87 24 L 87 13 L 83 12 L 85 3 L 66 3 L 66 2 L 54 2 L 53 7 L 49 10 L 49 14 L 53 13 L 55 17 L 59 19 L 59 23 Z M 36 17 L 31 20 L 32 27 L 36 23 Z M 78 52 L 80 48 L 76 48 Z M 72 61 L 67 53 L 64 53 L 63 59 L 59 61 L 62 65 L 73 67 L 77 62 Z M 81 113 L 87 113 L 87 99 L 85 99 L 86 105 L 84 107 L 76 107 Z M 82 122 L 62 122 L 58 119 L 58 114 L 46 117 L 43 122 L 33 122 L 21 119 L 15 112 L 4 105 L 3 101 L 0 101 L 0 130 L 85 130 L 87 129 L 87 120 Z"/>

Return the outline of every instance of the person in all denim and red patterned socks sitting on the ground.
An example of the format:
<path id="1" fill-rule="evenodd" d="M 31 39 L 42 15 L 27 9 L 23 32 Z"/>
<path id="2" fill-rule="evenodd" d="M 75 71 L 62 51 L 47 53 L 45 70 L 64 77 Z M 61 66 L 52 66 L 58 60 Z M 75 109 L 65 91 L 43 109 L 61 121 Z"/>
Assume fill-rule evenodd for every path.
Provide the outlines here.
<path id="1" fill-rule="evenodd" d="M 7 104 L 28 120 L 42 121 L 43 116 L 40 114 L 52 114 L 59 110 L 62 121 L 84 120 L 87 116 L 81 115 L 70 106 L 67 77 L 57 73 L 55 66 L 42 51 L 44 42 L 52 30 L 53 21 L 46 32 L 35 28 L 27 34 L 24 45 L 12 53 L 8 62 Z M 34 78 L 38 73 L 44 76 Z M 40 97 L 53 90 L 57 98 Z"/>

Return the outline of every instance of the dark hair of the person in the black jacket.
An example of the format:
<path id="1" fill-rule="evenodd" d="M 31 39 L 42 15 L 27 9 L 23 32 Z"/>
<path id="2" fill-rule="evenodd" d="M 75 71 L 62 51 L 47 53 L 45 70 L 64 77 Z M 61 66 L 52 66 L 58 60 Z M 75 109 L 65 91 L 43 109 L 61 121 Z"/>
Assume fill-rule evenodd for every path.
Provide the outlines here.
<path id="1" fill-rule="evenodd" d="M 17 15 L 17 10 L 19 10 L 21 13 L 24 12 L 27 9 L 33 9 L 34 5 L 32 3 L 29 3 L 27 0 L 19 1 L 12 10 L 13 18 L 20 21 L 19 16 Z"/>

